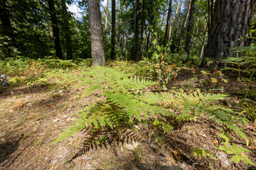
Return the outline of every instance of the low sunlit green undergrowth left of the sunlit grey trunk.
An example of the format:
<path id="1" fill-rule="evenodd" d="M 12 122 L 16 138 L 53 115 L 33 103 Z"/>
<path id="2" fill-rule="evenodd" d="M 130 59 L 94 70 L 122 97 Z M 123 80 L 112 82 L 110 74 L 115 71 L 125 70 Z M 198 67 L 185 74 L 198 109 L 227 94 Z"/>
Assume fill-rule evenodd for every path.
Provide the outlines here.
<path id="1" fill-rule="evenodd" d="M 23 84 L 50 85 L 50 79 L 60 77 L 62 74 L 74 70 L 85 69 L 91 64 L 88 60 L 58 60 L 38 59 L 32 60 L 23 57 L 0 60 L 0 74 L 6 74 L 9 86 L 21 86 Z M 57 83 L 61 83 L 58 82 Z"/>

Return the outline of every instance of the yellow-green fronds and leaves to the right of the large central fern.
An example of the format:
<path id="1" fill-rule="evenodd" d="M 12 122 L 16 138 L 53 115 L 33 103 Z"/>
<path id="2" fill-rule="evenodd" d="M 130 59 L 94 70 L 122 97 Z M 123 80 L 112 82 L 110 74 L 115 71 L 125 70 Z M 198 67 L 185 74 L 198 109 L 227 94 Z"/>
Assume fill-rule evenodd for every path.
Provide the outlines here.
<path id="1" fill-rule="evenodd" d="M 179 121 L 196 120 L 199 115 L 204 114 L 208 118 L 215 120 L 217 123 L 225 125 L 227 129 L 233 130 L 233 132 L 237 133 L 240 137 L 245 139 L 246 142 L 248 142 L 248 138 L 245 133 L 242 132 L 242 128 L 238 127 L 239 123 L 245 125 L 247 120 L 238 115 L 233 115 L 232 109 L 224 108 L 223 106 L 214 103 L 215 101 L 225 99 L 226 96 L 227 95 L 225 94 L 202 94 L 200 90 L 194 91 L 193 93 L 191 92 L 190 94 L 186 94 L 184 91 L 171 91 L 171 93 L 164 93 L 163 98 L 159 103 L 162 106 L 179 111 L 180 116 L 177 118 Z M 219 136 L 223 137 L 223 135 Z M 226 136 L 226 138 L 228 138 L 228 134 Z M 226 140 L 226 142 L 223 143 L 225 147 L 219 145 L 218 149 L 221 149 L 228 154 L 235 154 L 231 159 L 232 161 L 240 162 L 242 159 L 244 163 L 253 164 L 247 156 L 242 156 L 243 152 L 250 152 L 249 150 L 240 149 L 240 147 L 234 143 L 233 148 L 229 147 L 228 142 L 230 142 L 230 140 Z M 220 142 L 220 144 L 222 143 Z M 206 155 L 208 155 L 212 159 L 215 159 L 215 156 L 205 149 L 196 148 L 193 149 L 193 152 L 199 158 L 201 158 L 201 156 L 206 157 Z"/>

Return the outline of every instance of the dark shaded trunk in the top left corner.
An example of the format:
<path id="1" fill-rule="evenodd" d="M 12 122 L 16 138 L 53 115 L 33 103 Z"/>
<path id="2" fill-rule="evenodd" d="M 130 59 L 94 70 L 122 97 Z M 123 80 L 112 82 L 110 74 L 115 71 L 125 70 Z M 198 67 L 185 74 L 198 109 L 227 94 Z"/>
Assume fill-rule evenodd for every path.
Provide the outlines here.
<path id="1" fill-rule="evenodd" d="M 1 25 L 3 26 L 4 35 L 11 38 L 12 45 L 15 45 L 14 30 L 11 27 L 9 11 L 6 8 L 5 0 L 0 0 L 0 18 L 1 18 Z"/>

